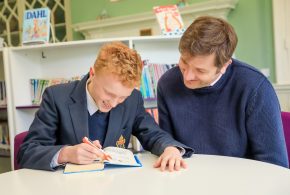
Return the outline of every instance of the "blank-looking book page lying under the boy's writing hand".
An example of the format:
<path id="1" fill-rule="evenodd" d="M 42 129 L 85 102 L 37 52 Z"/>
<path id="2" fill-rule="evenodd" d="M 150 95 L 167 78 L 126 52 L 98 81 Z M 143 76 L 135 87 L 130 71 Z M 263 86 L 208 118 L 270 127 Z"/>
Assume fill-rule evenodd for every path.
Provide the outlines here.
<path id="1" fill-rule="evenodd" d="M 101 171 L 104 169 L 104 163 L 94 162 L 88 165 L 77 165 L 72 163 L 67 163 L 63 173 L 79 173 L 88 171 Z"/>

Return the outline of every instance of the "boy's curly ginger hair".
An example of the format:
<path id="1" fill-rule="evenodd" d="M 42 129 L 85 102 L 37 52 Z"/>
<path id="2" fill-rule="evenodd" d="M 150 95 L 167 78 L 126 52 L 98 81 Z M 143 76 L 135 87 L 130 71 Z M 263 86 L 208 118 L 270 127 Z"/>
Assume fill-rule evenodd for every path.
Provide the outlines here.
<path id="1" fill-rule="evenodd" d="M 121 42 L 112 42 L 101 47 L 94 70 L 116 75 L 127 87 L 137 87 L 141 82 L 142 61 L 140 55 Z"/>

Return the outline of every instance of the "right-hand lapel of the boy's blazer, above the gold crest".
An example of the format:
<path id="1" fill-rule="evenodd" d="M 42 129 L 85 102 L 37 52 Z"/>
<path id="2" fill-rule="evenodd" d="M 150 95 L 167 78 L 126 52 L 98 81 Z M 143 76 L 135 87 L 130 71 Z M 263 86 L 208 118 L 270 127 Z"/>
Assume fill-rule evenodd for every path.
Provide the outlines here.
<path id="1" fill-rule="evenodd" d="M 119 138 L 118 136 L 120 135 L 119 132 L 122 130 L 121 123 L 123 115 L 124 115 L 123 104 L 119 104 L 117 107 L 113 108 L 110 111 L 108 130 L 103 147 L 116 146 L 116 140 L 118 140 Z"/>

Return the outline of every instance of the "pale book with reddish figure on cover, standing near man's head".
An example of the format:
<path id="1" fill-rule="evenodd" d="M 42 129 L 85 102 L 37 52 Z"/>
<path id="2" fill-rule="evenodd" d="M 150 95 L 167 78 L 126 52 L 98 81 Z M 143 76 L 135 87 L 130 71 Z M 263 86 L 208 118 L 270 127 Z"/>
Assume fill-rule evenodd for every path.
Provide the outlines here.
<path id="1" fill-rule="evenodd" d="M 163 35 L 182 35 L 185 31 L 181 15 L 176 5 L 153 7 Z"/>

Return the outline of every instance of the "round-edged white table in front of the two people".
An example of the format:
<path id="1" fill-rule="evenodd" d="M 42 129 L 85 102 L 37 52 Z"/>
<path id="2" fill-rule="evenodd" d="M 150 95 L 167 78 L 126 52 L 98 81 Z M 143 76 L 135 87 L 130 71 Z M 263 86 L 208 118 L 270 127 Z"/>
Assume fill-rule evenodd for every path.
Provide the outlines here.
<path id="1" fill-rule="evenodd" d="M 22 169 L 0 174 L 1 195 L 290 195 L 290 170 L 268 163 L 193 155 L 188 169 L 160 172 L 157 159 L 139 154 L 141 168 L 63 174 Z"/>

